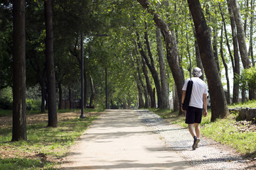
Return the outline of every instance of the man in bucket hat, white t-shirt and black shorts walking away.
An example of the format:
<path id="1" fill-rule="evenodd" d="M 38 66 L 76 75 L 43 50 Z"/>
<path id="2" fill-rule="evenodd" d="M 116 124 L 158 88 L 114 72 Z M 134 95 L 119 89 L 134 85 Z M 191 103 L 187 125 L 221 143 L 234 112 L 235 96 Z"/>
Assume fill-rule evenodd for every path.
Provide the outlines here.
<path id="1" fill-rule="evenodd" d="M 188 124 L 188 130 L 191 133 L 194 142 L 193 142 L 193 149 L 196 149 L 198 147 L 198 142 L 200 142 L 200 126 L 202 120 L 202 113 L 206 117 L 208 115 L 207 113 L 207 94 L 208 94 L 208 88 L 207 84 L 201 80 L 199 77 L 201 77 L 202 72 L 201 69 L 198 67 L 195 67 L 193 69 L 193 77 L 191 80 L 193 81 L 193 87 L 191 92 L 191 100 L 188 104 L 188 109 L 186 110 L 186 124 Z M 183 104 L 183 101 L 186 96 L 186 87 L 188 85 L 188 81 L 190 79 L 187 79 L 185 81 L 185 84 L 183 85 L 183 94 L 181 98 L 181 103 Z M 181 104 L 181 105 L 182 105 Z M 183 111 L 181 106 L 181 111 Z"/>

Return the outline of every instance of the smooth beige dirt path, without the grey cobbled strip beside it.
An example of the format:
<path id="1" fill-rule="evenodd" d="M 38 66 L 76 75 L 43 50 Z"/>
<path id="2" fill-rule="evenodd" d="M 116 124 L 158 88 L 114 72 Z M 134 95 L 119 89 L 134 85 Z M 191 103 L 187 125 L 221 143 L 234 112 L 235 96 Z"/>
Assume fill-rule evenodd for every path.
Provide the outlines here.
<path id="1" fill-rule="evenodd" d="M 70 148 L 62 169 L 193 169 L 136 111 L 107 110 Z"/>

